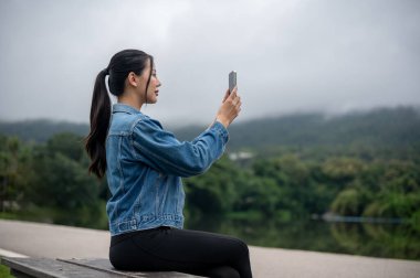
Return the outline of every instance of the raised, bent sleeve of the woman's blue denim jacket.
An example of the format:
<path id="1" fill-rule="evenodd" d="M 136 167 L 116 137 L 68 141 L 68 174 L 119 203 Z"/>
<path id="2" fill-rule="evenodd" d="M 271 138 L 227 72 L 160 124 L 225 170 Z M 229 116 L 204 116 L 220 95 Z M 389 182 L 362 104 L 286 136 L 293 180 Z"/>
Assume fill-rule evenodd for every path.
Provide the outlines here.
<path id="1" fill-rule="evenodd" d="M 178 141 L 158 121 L 141 119 L 133 132 L 137 159 L 166 174 L 191 177 L 206 172 L 224 152 L 228 130 L 216 121 L 192 141 Z"/>

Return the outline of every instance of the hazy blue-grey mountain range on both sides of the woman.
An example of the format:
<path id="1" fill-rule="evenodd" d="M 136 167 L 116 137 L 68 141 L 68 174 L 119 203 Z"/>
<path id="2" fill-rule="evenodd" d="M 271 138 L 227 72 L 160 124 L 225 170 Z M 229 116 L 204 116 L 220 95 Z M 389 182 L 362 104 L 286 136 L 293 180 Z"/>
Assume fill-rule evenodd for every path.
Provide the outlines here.
<path id="1" fill-rule="evenodd" d="M 169 128 L 180 140 L 191 140 L 206 126 Z M 81 136 L 88 125 L 51 120 L 1 122 L 0 133 L 28 141 L 45 141 L 52 135 L 70 131 Z M 327 117 L 295 114 L 235 122 L 229 128 L 231 150 L 273 146 L 410 146 L 420 143 L 420 109 L 414 107 L 378 108 Z"/>

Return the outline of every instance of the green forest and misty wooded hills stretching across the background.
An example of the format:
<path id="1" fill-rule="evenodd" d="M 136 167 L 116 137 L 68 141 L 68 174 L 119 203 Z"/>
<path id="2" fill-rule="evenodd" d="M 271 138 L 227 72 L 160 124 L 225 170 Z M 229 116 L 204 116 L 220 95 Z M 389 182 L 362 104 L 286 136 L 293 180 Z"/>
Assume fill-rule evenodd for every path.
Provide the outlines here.
<path id="1" fill-rule="evenodd" d="M 0 122 L 0 217 L 107 228 L 106 181 L 87 174 L 87 125 Z M 174 129 L 189 140 L 203 128 Z M 186 225 L 202 218 L 333 216 L 420 232 L 420 111 L 286 115 L 232 125 L 227 153 L 185 179 Z"/>

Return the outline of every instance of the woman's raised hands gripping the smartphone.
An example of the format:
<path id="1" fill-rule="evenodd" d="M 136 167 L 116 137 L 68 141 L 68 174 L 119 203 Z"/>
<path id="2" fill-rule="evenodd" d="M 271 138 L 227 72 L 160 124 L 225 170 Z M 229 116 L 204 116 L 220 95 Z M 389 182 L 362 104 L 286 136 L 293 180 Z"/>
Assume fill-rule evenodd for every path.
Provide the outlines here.
<path id="1" fill-rule="evenodd" d="M 228 89 L 216 116 L 216 120 L 220 121 L 224 127 L 229 127 L 241 111 L 241 105 L 242 103 L 241 97 L 238 95 L 238 87 L 234 87 L 231 94 L 229 94 Z"/>

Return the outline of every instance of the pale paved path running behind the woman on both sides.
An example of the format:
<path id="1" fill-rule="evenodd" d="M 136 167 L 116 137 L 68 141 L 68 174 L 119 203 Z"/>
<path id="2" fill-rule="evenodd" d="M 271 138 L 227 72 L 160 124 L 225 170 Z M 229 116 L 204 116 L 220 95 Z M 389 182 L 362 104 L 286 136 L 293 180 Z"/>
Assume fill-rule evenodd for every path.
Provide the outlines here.
<path id="1" fill-rule="evenodd" d="M 108 244 L 105 231 L 0 220 L 0 256 L 12 252 L 30 257 L 106 258 Z M 253 246 L 250 253 L 256 278 L 420 277 L 420 261 Z"/>

